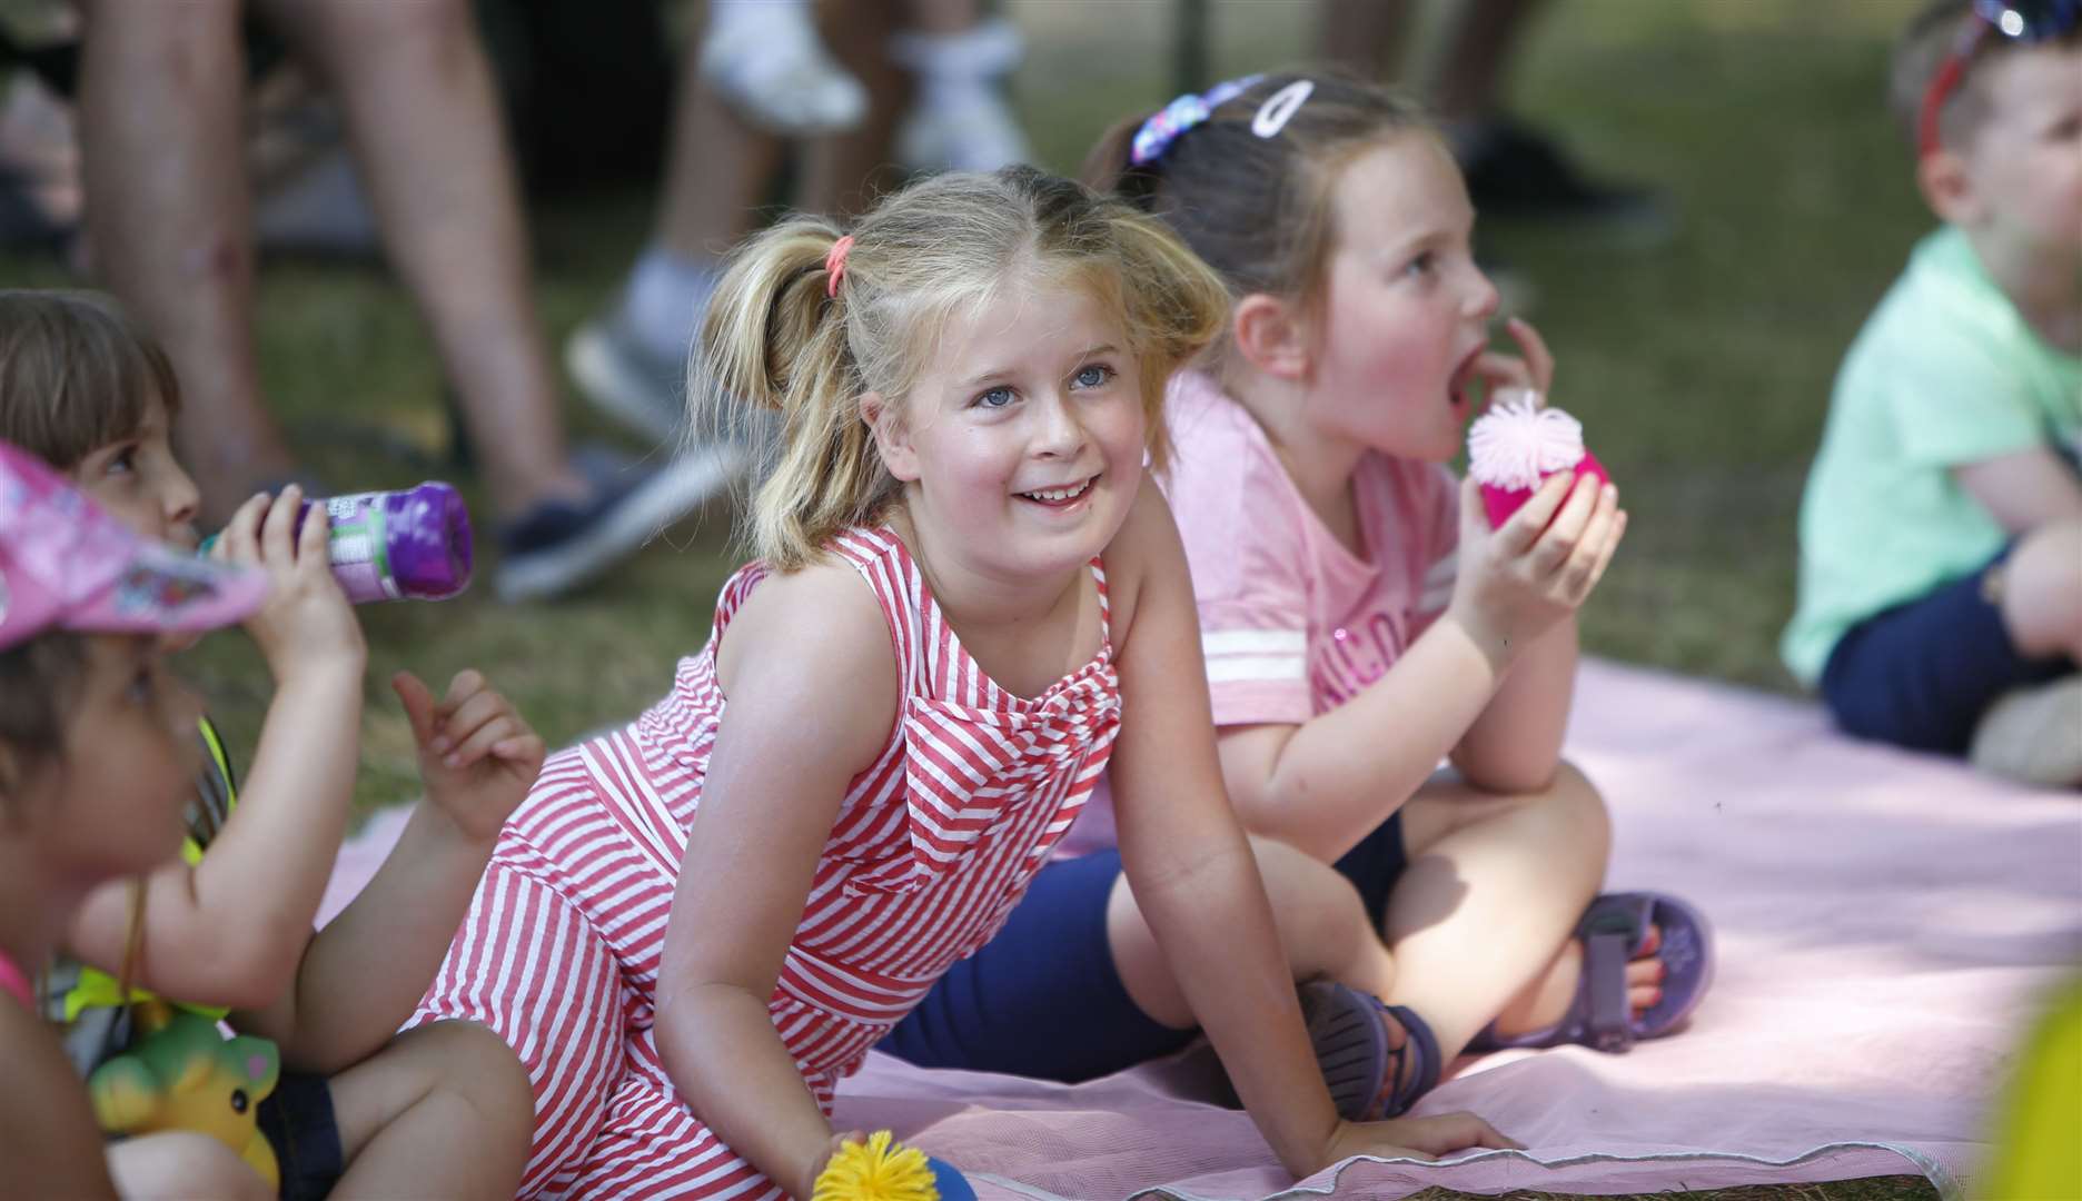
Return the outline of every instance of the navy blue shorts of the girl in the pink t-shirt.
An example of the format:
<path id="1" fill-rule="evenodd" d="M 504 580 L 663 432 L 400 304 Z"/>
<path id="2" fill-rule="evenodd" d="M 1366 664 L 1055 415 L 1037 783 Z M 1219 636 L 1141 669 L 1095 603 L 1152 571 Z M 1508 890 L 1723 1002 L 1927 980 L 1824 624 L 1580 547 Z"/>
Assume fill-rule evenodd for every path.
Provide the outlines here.
<path id="1" fill-rule="evenodd" d="M 1378 924 L 1403 864 L 1397 814 L 1339 860 L 1337 870 L 1357 885 Z M 920 1068 L 1074 1084 L 1183 1049 L 1197 1030 L 1156 1022 L 1120 982 L 1106 939 L 1106 901 L 1116 878 L 1114 849 L 1041 868 L 1006 928 L 949 968 L 877 1051 Z"/>

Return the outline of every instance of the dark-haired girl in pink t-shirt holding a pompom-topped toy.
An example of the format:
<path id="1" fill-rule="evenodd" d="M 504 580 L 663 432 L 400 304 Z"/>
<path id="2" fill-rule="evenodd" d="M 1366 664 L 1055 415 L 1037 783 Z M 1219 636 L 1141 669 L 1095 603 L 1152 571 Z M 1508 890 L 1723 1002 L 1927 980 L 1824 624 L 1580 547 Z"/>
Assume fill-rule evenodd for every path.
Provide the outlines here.
<path id="1" fill-rule="evenodd" d="M 1222 774 L 1253 835 L 1337 864 L 1382 922 L 1387 1001 L 1439 1055 L 1405 1070 L 1672 1030 L 1707 924 L 1597 897 L 1609 820 L 1562 760 L 1576 608 L 1626 514 L 1562 475 L 1491 531 L 1443 466 L 1482 385 L 1553 375 L 1522 321 L 1520 354 L 1489 350 L 1445 142 L 1380 90 L 1274 75 L 1124 123 L 1093 173 L 1230 285 L 1228 337 L 1172 379 L 1164 479 Z"/>

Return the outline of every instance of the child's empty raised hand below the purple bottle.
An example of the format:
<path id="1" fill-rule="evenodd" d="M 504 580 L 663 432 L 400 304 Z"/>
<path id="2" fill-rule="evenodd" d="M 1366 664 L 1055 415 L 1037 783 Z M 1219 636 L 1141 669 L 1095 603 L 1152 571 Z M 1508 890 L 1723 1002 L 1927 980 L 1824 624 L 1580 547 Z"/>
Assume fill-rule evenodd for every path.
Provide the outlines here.
<path id="1" fill-rule="evenodd" d="M 473 843 L 489 843 L 541 772 L 543 743 L 481 672 L 460 670 L 448 695 L 412 672 L 391 676 L 418 743 L 418 778 L 433 801 Z"/>

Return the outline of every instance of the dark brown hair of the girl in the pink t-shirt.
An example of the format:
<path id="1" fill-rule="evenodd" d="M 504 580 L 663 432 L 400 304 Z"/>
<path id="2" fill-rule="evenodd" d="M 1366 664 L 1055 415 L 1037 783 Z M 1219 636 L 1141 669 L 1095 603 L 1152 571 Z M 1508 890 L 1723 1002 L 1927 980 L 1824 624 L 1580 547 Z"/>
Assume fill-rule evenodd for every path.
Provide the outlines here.
<path id="1" fill-rule="evenodd" d="M 1312 83 L 1307 98 L 1278 133 L 1260 137 L 1251 129 L 1260 108 L 1301 81 Z M 1389 137 L 1432 129 L 1416 102 L 1316 71 L 1258 79 L 1135 167 L 1143 121 L 1128 117 L 1099 139 L 1085 181 L 1164 219 L 1235 296 L 1264 291 L 1303 304 L 1322 291 L 1337 241 L 1330 200 L 1345 167 Z"/>

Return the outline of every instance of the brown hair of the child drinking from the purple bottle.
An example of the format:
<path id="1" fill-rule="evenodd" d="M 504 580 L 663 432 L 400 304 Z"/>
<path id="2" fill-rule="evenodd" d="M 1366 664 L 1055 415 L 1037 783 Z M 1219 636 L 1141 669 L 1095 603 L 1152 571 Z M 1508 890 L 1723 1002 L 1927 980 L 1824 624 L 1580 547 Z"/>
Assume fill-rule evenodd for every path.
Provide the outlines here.
<path id="1" fill-rule="evenodd" d="M 167 352 L 94 291 L 0 289 L 0 439 L 58 470 L 133 437 L 181 385 Z"/>

